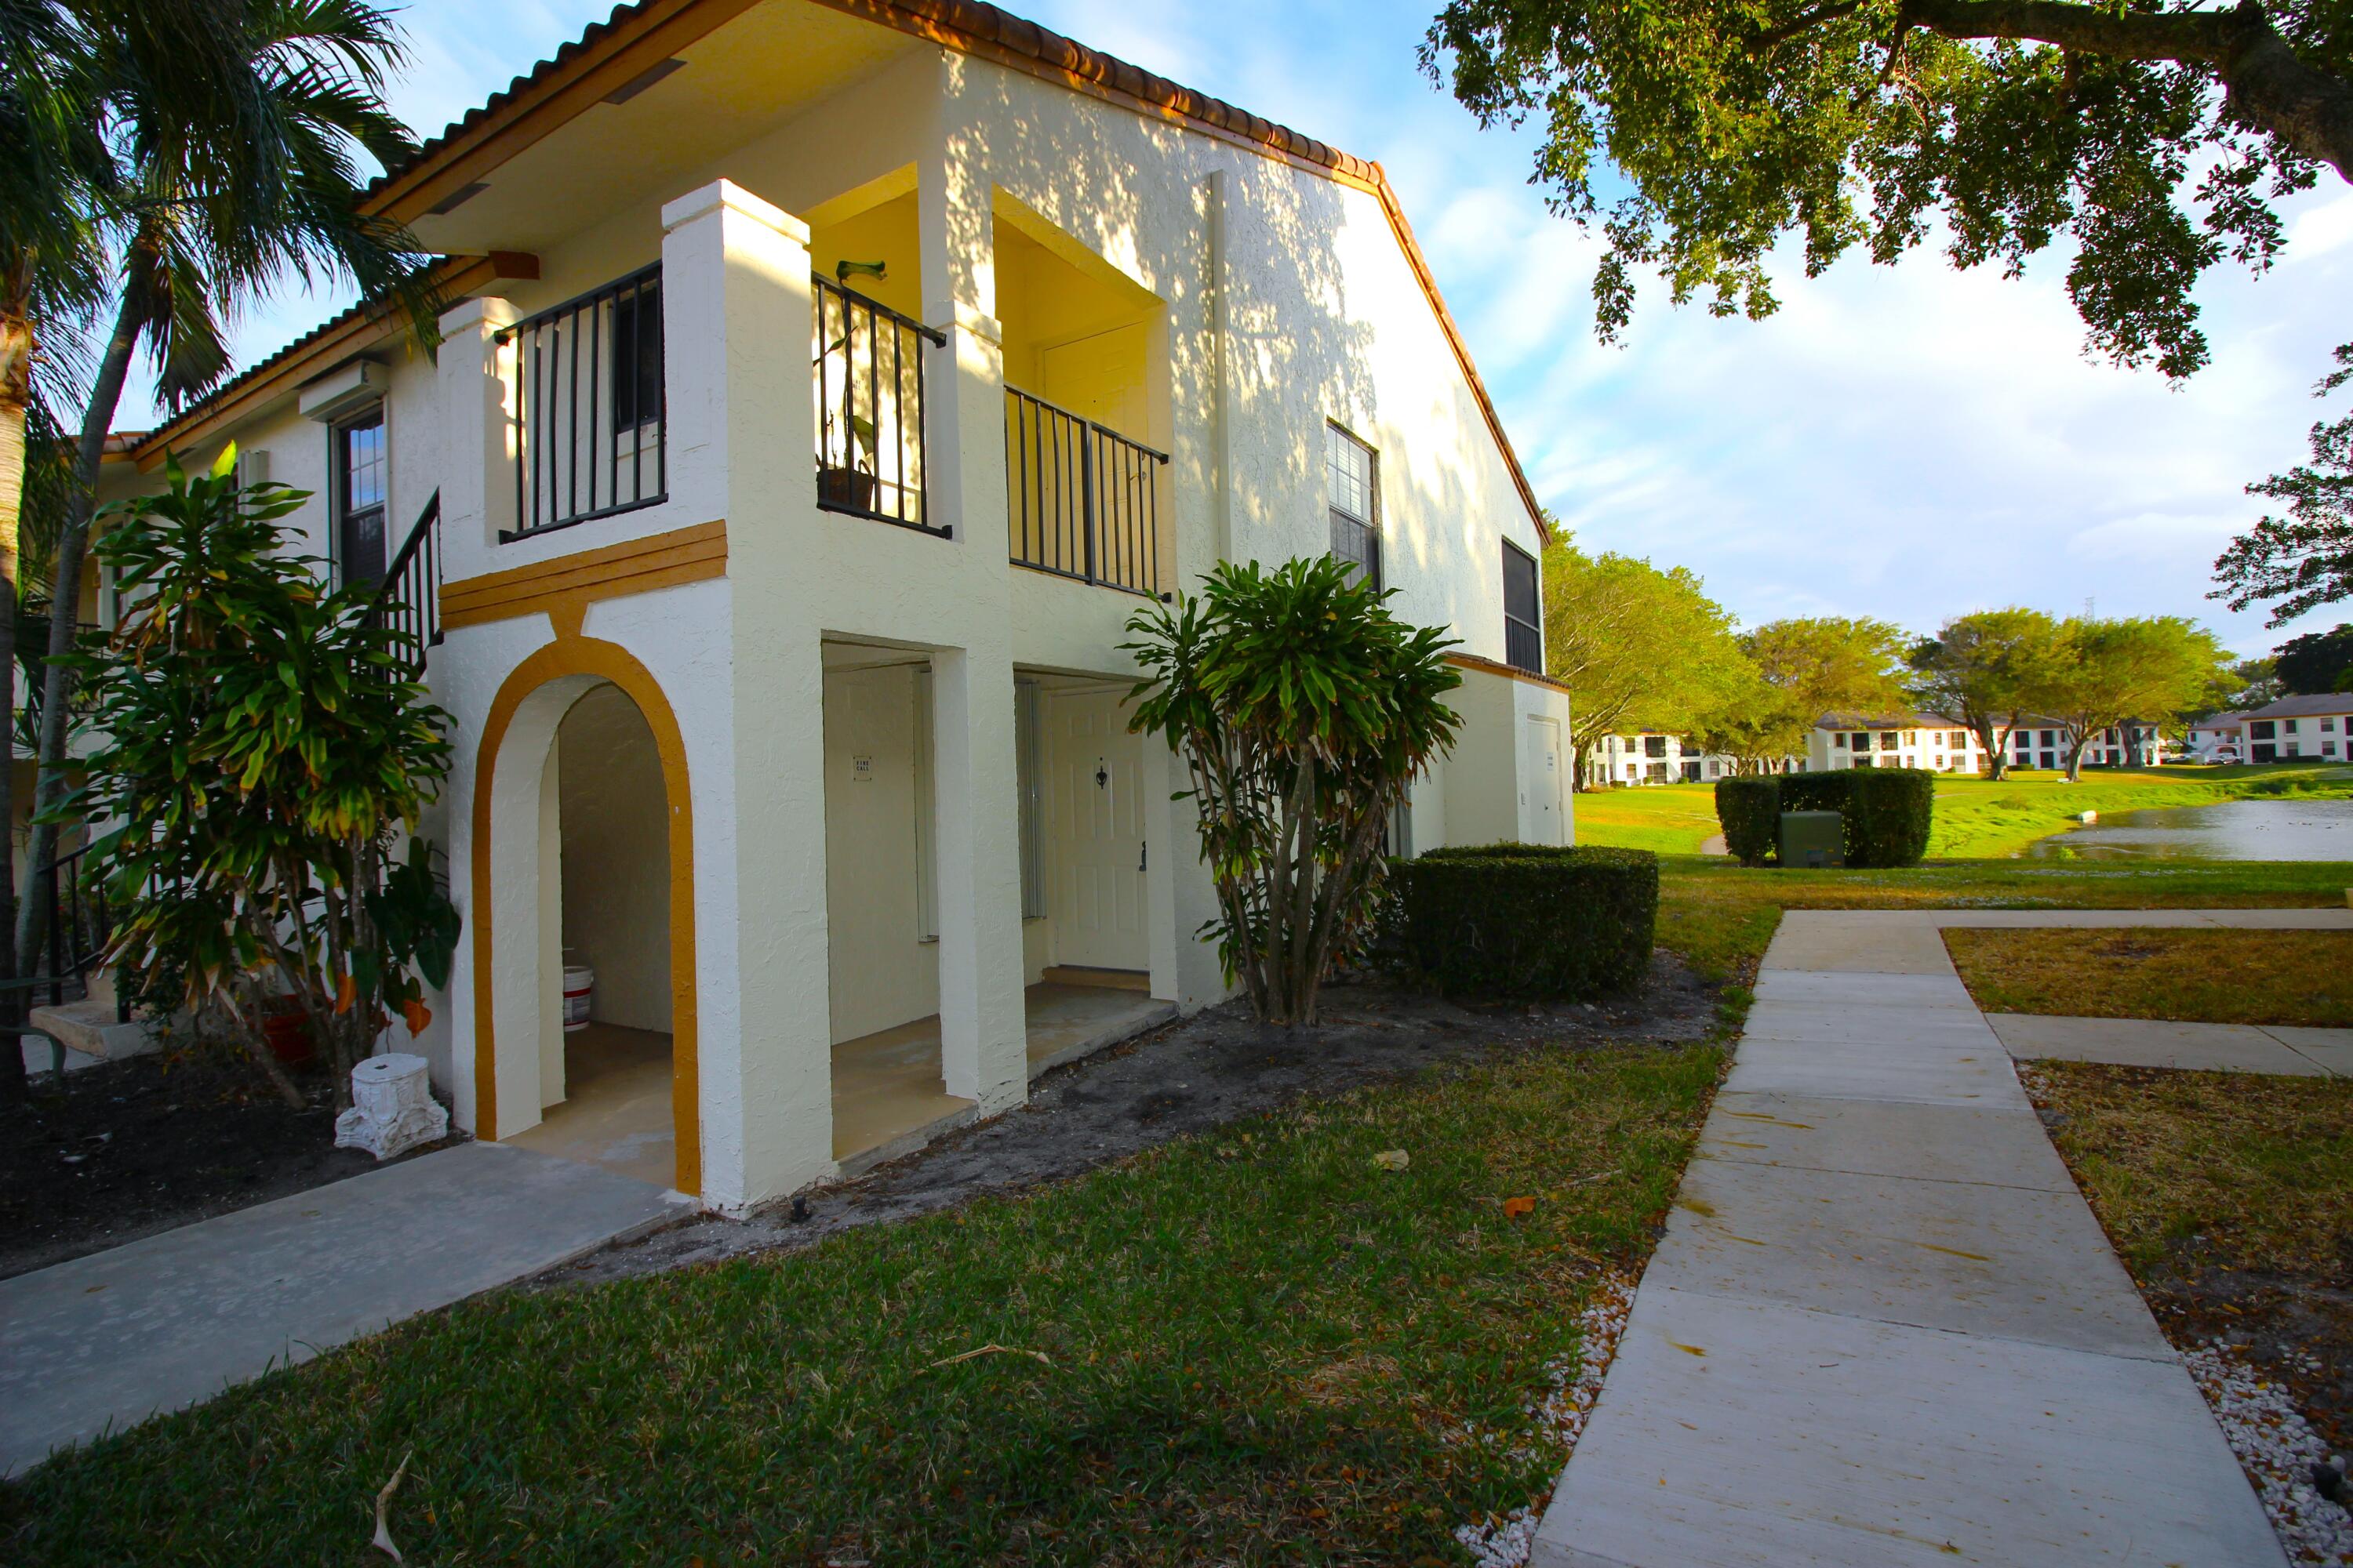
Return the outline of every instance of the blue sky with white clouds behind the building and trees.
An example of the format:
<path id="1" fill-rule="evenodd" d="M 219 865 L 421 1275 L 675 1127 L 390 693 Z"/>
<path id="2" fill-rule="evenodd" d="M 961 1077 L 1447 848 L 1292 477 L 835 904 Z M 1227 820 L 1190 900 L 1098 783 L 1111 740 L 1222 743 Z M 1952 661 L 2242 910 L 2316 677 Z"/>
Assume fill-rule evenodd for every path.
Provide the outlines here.
<path id="1" fill-rule="evenodd" d="M 2247 480 L 2304 456 L 2332 343 L 2353 336 L 2353 188 L 2289 205 L 2285 261 L 2200 289 L 2214 362 L 2188 386 L 2085 357 L 2049 254 L 2024 282 L 1934 252 L 1807 280 L 1781 313 L 1713 320 L 1645 294 L 1593 339 L 1598 244 L 1527 183 L 1527 132 L 1480 132 L 1414 66 L 1435 0 L 1033 0 L 1012 9 L 1388 167 L 1539 496 L 1586 548 L 1692 567 L 1744 623 L 1880 616 L 1913 630 L 1995 604 L 2181 614 L 2245 654 L 2268 632 L 2209 602 L 2259 515 Z M 421 134 L 506 87 L 600 5 L 419 0 L 393 108 Z M 252 362 L 344 299 L 238 324 Z M 134 390 L 122 425 L 153 421 Z"/>

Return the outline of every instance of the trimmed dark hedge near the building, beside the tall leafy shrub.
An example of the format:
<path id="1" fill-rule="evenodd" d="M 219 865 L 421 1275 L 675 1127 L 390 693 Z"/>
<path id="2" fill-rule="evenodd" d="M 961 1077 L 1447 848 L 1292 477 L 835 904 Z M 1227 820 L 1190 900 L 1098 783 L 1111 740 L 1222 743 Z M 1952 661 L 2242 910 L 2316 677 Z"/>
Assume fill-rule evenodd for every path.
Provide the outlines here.
<path id="1" fill-rule="evenodd" d="M 1398 969 L 1447 997 L 1591 1001 L 1649 973 L 1659 856 L 1473 844 L 1391 863 Z"/>

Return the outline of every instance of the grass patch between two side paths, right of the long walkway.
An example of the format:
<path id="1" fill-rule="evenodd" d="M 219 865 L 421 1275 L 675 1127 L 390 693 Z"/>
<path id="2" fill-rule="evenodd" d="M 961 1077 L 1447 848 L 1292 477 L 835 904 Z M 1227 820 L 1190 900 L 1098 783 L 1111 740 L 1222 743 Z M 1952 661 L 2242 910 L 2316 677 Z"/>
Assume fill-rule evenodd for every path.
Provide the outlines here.
<path id="1" fill-rule="evenodd" d="M 2353 1025 L 2353 931 L 1946 931 L 1988 1013 Z"/>

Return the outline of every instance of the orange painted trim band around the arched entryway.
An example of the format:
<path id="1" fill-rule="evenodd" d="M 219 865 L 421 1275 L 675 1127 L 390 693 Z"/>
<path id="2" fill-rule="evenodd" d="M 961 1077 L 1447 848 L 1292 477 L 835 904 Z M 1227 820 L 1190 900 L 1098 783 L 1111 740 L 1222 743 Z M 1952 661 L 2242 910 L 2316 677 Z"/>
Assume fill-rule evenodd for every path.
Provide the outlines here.
<path id="1" fill-rule="evenodd" d="M 496 1009 L 492 1006 L 489 799 L 506 726 L 522 701 L 565 675 L 609 679 L 638 703 L 661 755 L 671 806 L 671 1124 L 678 1135 L 678 1190 L 704 1190 L 701 1098 L 694 1016 L 694 797 L 687 790 L 687 743 L 654 675 L 628 649 L 595 637 L 558 637 L 525 658 L 499 686 L 473 764 L 473 1114 L 475 1135 L 499 1135 Z M 539 1041 L 532 1041 L 539 1048 Z"/>

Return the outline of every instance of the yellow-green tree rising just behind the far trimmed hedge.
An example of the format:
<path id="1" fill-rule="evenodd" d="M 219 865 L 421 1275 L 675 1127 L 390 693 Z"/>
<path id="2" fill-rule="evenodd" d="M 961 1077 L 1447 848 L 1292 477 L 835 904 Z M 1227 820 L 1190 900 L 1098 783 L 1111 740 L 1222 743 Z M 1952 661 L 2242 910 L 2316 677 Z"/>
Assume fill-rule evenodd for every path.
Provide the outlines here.
<path id="1" fill-rule="evenodd" d="M 1798 616 L 1739 642 L 1758 684 L 1706 726 L 1704 741 L 1737 757 L 1744 773 L 1805 752 L 1826 712 L 1887 712 L 1906 701 L 1906 637 L 1887 621 Z"/>

